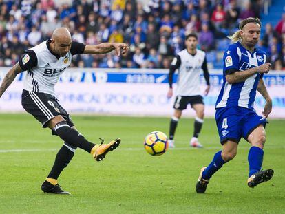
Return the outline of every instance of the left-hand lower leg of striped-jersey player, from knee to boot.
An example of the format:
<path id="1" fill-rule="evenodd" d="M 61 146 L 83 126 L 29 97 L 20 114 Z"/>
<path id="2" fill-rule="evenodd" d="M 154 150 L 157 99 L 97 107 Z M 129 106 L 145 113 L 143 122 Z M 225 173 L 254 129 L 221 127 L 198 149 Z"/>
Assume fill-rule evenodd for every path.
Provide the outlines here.
<path id="1" fill-rule="evenodd" d="M 196 184 L 196 192 L 204 193 L 207 189 L 211 176 L 218 171 L 222 165 L 235 158 L 236 154 L 237 143 L 231 140 L 226 141 L 222 146 L 222 151 L 215 153 L 215 156 L 213 157 L 213 160 L 209 166 L 201 168 L 198 182 Z"/>

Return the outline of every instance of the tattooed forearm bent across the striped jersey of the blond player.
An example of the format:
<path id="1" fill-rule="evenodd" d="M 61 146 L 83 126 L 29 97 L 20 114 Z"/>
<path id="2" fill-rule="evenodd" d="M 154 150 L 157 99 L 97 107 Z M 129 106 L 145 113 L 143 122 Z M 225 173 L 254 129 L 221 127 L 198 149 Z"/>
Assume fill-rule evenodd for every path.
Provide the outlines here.
<path id="1" fill-rule="evenodd" d="M 231 72 L 231 74 L 226 75 L 226 81 L 230 84 L 240 83 L 245 81 L 247 78 L 253 76 L 253 74 L 256 74 L 257 72 L 259 72 L 260 74 L 267 74 L 270 70 L 270 67 L 270 63 L 265 63 L 258 67 L 253 67 L 242 72 L 236 70 Z"/>

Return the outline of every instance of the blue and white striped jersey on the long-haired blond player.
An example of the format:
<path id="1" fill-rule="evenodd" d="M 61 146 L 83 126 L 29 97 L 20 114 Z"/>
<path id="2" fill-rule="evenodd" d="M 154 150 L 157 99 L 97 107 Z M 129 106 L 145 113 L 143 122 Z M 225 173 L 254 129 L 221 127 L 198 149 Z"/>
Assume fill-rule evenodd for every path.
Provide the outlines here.
<path id="1" fill-rule="evenodd" d="M 240 42 L 229 45 L 224 52 L 224 83 L 218 96 L 215 108 L 221 107 L 245 107 L 253 109 L 258 81 L 263 74 L 257 73 L 240 83 L 229 84 L 226 81 L 226 74 L 242 72 L 252 67 L 266 63 L 266 53 L 262 50 L 255 50 L 251 53 L 246 50 Z"/>

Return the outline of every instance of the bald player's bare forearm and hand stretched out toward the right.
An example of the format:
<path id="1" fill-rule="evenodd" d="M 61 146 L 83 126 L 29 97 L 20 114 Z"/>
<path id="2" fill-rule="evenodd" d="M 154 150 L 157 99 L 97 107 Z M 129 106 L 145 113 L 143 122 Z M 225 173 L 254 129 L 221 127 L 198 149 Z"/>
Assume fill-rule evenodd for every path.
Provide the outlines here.
<path id="1" fill-rule="evenodd" d="M 107 54 L 116 50 L 118 56 L 125 56 L 129 52 L 129 46 L 126 43 L 101 43 L 98 45 L 86 45 L 83 54 Z"/>

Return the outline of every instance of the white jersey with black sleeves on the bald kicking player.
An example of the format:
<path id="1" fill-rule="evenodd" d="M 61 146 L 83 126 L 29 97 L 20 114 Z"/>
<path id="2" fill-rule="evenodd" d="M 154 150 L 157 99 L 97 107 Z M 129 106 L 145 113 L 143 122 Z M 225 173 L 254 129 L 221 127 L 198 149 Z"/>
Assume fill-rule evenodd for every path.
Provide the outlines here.
<path id="1" fill-rule="evenodd" d="M 54 86 L 72 62 L 72 55 L 83 54 L 84 49 L 84 44 L 72 42 L 70 51 L 65 56 L 58 56 L 52 53 L 50 40 L 47 40 L 26 50 L 19 61 L 21 69 L 28 71 L 23 89 L 54 95 Z"/>

